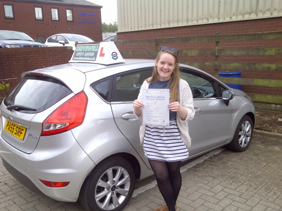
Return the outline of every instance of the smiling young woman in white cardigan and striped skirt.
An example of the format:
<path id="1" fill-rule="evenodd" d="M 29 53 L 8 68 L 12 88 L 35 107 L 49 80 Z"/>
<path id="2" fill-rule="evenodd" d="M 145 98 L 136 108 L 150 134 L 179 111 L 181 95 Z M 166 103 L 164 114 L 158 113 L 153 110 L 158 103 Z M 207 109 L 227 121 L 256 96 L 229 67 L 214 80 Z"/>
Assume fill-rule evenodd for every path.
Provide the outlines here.
<path id="1" fill-rule="evenodd" d="M 180 163 L 188 158 L 191 138 L 188 121 L 195 114 L 191 89 L 185 80 L 179 79 L 177 49 L 162 46 L 155 60 L 152 77 L 146 79 L 140 88 L 138 99 L 133 102 L 136 118 L 140 118 L 144 104 L 142 90 L 145 88 L 170 89 L 169 126 L 142 125 L 140 142 L 144 147 L 155 174 L 165 205 L 153 211 L 175 211 L 176 200 L 182 185 Z"/>

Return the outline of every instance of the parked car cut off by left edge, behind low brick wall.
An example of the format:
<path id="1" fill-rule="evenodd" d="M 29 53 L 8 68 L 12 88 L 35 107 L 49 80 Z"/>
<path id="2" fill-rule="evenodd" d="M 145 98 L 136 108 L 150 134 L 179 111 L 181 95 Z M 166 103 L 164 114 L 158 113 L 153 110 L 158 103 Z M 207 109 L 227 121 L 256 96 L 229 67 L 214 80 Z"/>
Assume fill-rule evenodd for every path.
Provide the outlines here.
<path id="1" fill-rule="evenodd" d="M 47 45 L 35 41 L 24 32 L 0 30 L 0 48 L 14 49 L 30 47 L 47 47 Z"/>

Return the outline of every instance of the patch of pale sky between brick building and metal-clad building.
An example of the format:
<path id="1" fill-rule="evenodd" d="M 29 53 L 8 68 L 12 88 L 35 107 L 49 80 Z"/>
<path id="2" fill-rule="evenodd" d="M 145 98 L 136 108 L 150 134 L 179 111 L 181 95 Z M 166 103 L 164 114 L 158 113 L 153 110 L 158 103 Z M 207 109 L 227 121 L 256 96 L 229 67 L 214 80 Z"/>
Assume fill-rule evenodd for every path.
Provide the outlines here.
<path id="1" fill-rule="evenodd" d="M 87 0 L 96 5 L 103 6 L 101 9 L 102 22 L 111 24 L 117 21 L 116 0 Z"/>

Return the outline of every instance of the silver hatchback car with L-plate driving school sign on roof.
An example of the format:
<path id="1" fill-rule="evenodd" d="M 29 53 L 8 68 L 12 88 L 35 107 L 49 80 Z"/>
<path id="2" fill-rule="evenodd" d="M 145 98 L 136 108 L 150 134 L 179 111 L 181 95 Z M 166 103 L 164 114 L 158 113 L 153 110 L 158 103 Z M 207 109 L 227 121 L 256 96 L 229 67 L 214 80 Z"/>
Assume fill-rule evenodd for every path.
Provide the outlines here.
<path id="1" fill-rule="evenodd" d="M 102 43 L 108 42 L 91 47 L 94 57 L 107 56 L 102 51 L 108 45 Z M 108 50 L 109 59 L 122 58 L 117 49 Z M 78 51 L 74 55 L 81 58 Z M 135 181 L 153 174 L 140 146 L 142 120 L 135 118 L 132 103 L 155 61 L 105 63 L 72 58 L 23 73 L 1 104 L 5 168 L 36 193 L 58 201 L 79 199 L 92 211 L 122 210 Z M 246 93 L 192 66 L 180 64 L 180 70 L 194 98 L 190 158 L 224 145 L 245 151 L 255 123 Z"/>

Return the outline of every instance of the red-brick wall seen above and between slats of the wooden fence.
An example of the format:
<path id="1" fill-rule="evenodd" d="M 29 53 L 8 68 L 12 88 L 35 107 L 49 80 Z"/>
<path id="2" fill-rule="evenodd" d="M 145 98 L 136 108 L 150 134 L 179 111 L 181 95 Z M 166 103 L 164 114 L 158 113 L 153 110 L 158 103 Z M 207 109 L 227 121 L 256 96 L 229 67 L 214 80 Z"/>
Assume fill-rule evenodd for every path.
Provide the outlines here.
<path id="1" fill-rule="evenodd" d="M 230 21 L 221 22 L 218 24 L 195 25 L 187 27 L 174 27 L 166 29 L 132 31 L 117 33 L 117 40 L 138 40 L 171 37 L 193 37 L 193 36 L 209 36 L 220 32 L 221 35 L 227 34 L 244 34 L 244 33 L 260 33 L 260 32 L 277 32 L 282 31 L 282 17 L 261 18 L 254 20 Z M 238 35 L 239 36 L 239 35 Z M 154 50 L 155 44 L 142 45 L 145 50 Z M 215 42 L 194 42 L 194 43 L 162 43 L 162 45 L 171 46 L 179 50 L 200 50 L 200 49 L 215 49 Z M 244 40 L 244 41 L 221 41 L 220 49 L 244 49 L 244 48 L 281 48 L 281 39 L 268 40 Z M 126 45 L 120 46 L 120 51 L 142 50 L 140 46 Z M 125 57 L 126 58 L 126 57 Z M 136 58 L 130 56 L 130 58 Z M 144 58 L 152 58 L 146 56 Z M 180 62 L 214 62 L 215 56 L 179 56 Z M 220 56 L 219 62 L 223 63 L 268 63 L 281 64 L 282 55 L 244 55 L 244 56 Z M 215 75 L 215 69 L 203 69 L 203 71 Z M 219 71 L 239 71 L 241 78 L 256 78 L 256 79 L 273 79 L 282 80 L 281 71 L 256 71 L 248 69 L 220 69 Z M 263 95 L 278 95 L 282 96 L 282 88 L 279 87 L 258 87 L 258 86 L 241 86 L 241 89 L 248 93 L 257 93 Z"/>

